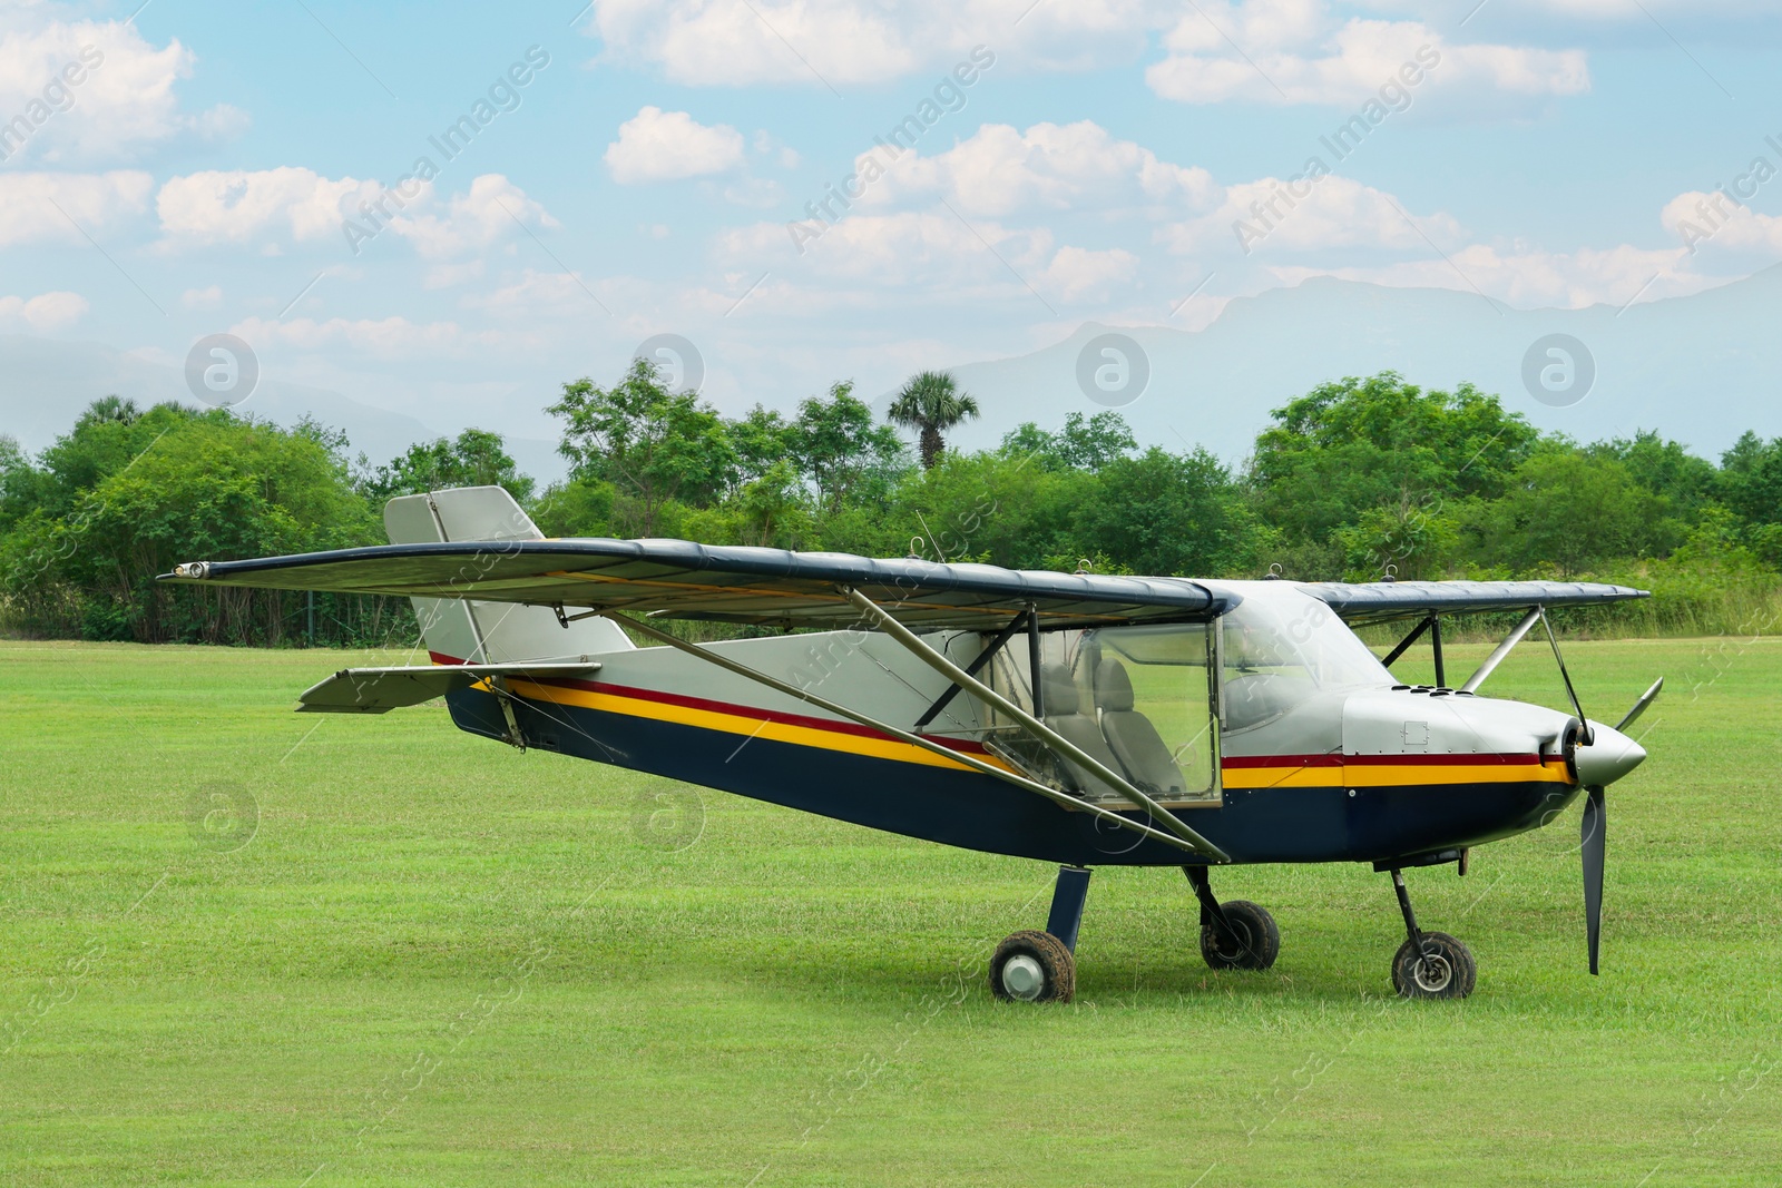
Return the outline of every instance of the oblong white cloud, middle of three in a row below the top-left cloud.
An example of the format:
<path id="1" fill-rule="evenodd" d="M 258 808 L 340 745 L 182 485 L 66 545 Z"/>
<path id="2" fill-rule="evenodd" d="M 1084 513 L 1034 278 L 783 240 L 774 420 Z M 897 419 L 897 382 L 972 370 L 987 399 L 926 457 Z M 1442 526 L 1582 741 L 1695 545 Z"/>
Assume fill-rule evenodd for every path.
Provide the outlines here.
<path id="1" fill-rule="evenodd" d="M 360 217 L 356 203 L 378 192 L 376 182 L 324 178 L 299 166 L 207 169 L 169 178 L 155 196 L 155 210 L 160 230 L 178 242 L 344 240 L 342 221 Z"/>

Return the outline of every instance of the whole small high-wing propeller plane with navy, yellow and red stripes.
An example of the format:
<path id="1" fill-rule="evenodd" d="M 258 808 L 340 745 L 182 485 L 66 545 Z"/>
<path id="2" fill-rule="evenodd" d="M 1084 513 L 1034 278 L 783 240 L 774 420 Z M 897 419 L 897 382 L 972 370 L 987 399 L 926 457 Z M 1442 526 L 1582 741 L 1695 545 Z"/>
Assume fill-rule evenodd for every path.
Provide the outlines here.
<path id="1" fill-rule="evenodd" d="M 1001 942 L 991 990 L 1067 1001 L 1094 866 L 1178 866 L 1215 969 L 1267 969 L 1279 932 L 1221 903 L 1215 866 L 1372 862 L 1406 940 L 1404 997 L 1465 997 L 1474 958 L 1426 932 L 1404 871 L 1552 821 L 1582 791 L 1598 971 L 1604 789 L 1645 750 L 1584 718 L 1547 609 L 1647 597 L 1574 582 L 1190 581 L 920 557 L 545 540 L 499 486 L 406 495 L 388 547 L 192 561 L 164 581 L 413 598 L 433 664 L 349 668 L 308 712 L 444 695 L 462 730 L 921 837 L 1060 864 L 1046 928 Z M 1524 611 L 1447 684 L 1442 620 Z M 688 643 L 659 620 L 781 634 Z M 1351 631 L 1413 623 L 1377 659 Z M 1543 625 L 1570 712 L 1479 695 Z M 636 647 L 624 629 L 661 647 Z M 814 629 L 814 631 L 798 631 Z M 1388 664 L 1420 638 L 1435 686 Z"/>

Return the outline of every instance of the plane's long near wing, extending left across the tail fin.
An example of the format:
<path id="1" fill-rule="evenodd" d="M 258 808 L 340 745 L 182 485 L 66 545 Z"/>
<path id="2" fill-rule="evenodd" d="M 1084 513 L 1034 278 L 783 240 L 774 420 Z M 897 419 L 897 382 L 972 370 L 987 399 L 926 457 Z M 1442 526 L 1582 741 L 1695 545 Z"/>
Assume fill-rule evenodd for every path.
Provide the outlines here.
<path id="1" fill-rule="evenodd" d="M 192 561 L 160 581 L 633 611 L 772 627 L 848 627 L 859 590 L 916 629 L 994 631 L 1032 606 L 1046 629 L 1205 622 L 1237 604 L 1181 577 L 1103 577 L 695 545 L 504 540 L 378 545 L 258 561 Z"/>

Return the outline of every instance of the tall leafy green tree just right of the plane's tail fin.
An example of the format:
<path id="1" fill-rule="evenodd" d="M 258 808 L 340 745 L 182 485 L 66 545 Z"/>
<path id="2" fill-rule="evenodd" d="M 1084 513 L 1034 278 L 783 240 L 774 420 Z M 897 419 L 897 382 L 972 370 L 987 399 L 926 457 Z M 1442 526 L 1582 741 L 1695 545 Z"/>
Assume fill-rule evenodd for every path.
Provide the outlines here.
<path id="1" fill-rule="evenodd" d="M 709 506 L 736 479 L 736 447 L 723 419 L 693 392 L 670 392 L 650 360 L 633 360 L 611 388 L 588 378 L 563 385 L 545 411 L 563 417 L 558 452 L 572 477 L 606 479 L 629 504 L 615 518 L 650 536 L 668 500 Z"/>

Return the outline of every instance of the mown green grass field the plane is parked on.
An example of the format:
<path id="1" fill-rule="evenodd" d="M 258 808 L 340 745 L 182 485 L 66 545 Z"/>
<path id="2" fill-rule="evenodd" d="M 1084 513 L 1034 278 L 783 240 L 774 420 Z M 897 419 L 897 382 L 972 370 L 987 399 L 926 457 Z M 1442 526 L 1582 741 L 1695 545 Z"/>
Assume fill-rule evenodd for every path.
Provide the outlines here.
<path id="1" fill-rule="evenodd" d="M 1001 1005 L 1051 869 L 290 712 L 364 659 L 0 643 L 0 1184 L 1782 1183 L 1782 641 L 1570 647 L 1597 718 L 1670 679 L 1604 976 L 1574 807 L 1411 873 L 1465 1003 L 1390 997 L 1390 885 L 1331 866 L 1215 875 L 1265 974 L 1101 871 L 1076 1001 Z"/>

